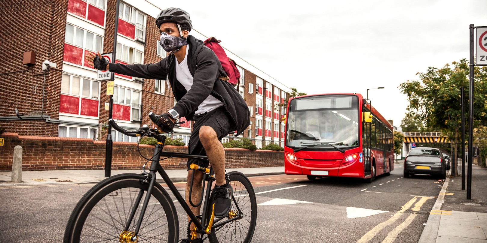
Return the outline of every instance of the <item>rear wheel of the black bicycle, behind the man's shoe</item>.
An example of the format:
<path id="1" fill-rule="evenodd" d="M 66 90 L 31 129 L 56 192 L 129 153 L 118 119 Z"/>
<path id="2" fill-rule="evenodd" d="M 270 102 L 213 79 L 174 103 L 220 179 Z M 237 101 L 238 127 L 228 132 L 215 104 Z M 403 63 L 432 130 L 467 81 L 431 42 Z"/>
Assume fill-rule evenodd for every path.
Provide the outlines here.
<path id="1" fill-rule="evenodd" d="M 208 239 L 210 243 L 250 243 L 254 236 L 255 225 L 257 223 L 255 191 L 250 180 L 244 174 L 240 172 L 229 172 L 228 176 L 230 178 L 229 183 L 233 188 L 233 196 L 239 208 L 242 210 L 244 217 L 231 221 L 219 228 L 212 228 L 211 233 L 208 234 Z M 210 210 L 208 211 L 211 213 Z M 233 199 L 230 212 L 232 211 L 236 211 Z"/>

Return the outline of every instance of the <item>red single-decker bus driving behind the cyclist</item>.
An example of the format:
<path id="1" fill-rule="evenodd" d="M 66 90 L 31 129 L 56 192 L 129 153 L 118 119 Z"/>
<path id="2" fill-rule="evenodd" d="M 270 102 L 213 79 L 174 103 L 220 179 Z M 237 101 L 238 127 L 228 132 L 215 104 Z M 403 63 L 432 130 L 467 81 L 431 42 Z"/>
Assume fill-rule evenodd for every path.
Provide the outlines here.
<path id="1" fill-rule="evenodd" d="M 291 98 L 285 138 L 285 174 L 309 180 L 356 177 L 370 183 L 394 169 L 393 127 L 360 94 Z"/>

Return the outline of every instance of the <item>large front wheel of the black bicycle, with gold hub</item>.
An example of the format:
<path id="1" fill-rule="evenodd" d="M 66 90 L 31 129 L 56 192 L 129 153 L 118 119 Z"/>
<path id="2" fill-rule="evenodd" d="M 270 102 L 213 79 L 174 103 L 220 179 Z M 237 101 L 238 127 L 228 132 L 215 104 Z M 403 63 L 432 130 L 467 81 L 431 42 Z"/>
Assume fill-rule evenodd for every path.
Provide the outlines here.
<path id="1" fill-rule="evenodd" d="M 143 190 L 144 195 L 131 221 L 129 231 L 134 231 L 137 224 L 140 208 L 149 188 L 149 184 L 141 183 L 145 178 L 140 174 L 119 174 L 96 184 L 73 209 L 63 242 L 120 242 L 119 236 L 131 212 L 135 197 Z M 154 226 L 159 227 L 154 228 Z M 102 240 L 103 237 L 106 241 Z M 179 222 L 176 208 L 167 191 L 159 184 L 155 184 L 152 189 L 138 237 L 138 242 L 147 239 L 151 239 L 150 242 L 176 243 L 178 241 Z M 93 241 L 90 241 L 90 238 Z"/>

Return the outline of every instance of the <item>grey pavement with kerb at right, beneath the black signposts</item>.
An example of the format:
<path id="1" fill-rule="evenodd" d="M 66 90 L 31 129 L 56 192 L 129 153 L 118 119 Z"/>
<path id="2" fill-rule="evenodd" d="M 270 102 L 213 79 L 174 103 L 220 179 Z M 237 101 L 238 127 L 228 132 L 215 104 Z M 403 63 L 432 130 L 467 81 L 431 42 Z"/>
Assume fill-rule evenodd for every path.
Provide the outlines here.
<path id="1" fill-rule="evenodd" d="M 467 189 L 467 167 L 465 171 Z M 467 199 L 467 190 L 462 190 L 462 176 L 450 175 L 431 209 L 419 243 L 487 243 L 486 190 L 487 168 L 472 165 L 471 199 Z"/>

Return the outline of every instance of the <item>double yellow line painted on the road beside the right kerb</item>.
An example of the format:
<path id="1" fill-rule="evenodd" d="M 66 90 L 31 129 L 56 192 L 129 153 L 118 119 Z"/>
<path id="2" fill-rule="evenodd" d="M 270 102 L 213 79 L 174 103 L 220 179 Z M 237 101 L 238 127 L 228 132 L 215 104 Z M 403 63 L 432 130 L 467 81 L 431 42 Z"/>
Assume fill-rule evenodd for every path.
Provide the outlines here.
<path id="1" fill-rule="evenodd" d="M 419 200 L 417 200 L 418 198 L 419 198 Z M 372 238 L 374 238 L 375 235 L 377 235 L 382 229 L 384 229 L 386 226 L 392 225 L 394 222 L 396 222 L 404 214 L 404 212 L 406 210 L 408 210 L 409 208 L 412 207 L 412 205 L 414 203 L 415 203 L 414 204 L 414 207 L 411 208 L 411 210 L 417 212 L 417 211 L 420 211 L 421 210 L 421 206 L 423 206 L 423 204 L 428 199 L 430 199 L 430 197 L 414 196 L 411 200 L 409 200 L 406 204 L 404 204 L 404 206 L 401 207 L 401 210 L 397 211 L 387 221 L 382 222 L 382 223 L 376 225 L 371 230 L 369 230 L 369 232 L 367 232 L 364 236 L 362 236 L 362 238 L 360 238 L 360 240 L 358 240 L 357 243 L 367 243 L 367 242 L 370 242 L 372 240 Z M 417 202 L 416 202 L 416 200 L 417 200 Z M 401 233 L 401 231 L 403 231 L 405 228 L 407 228 L 411 224 L 412 220 L 416 217 L 416 215 L 417 215 L 417 213 L 410 214 L 404 220 L 404 222 L 402 222 L 400 225 L 396 226 L 393 230 L 391 230 L 391 232 L 389 232 L 389 234 L 382 241 L 382 243 L 393 243 L 394 240 L 399 235 L 399 233 Z"/>

